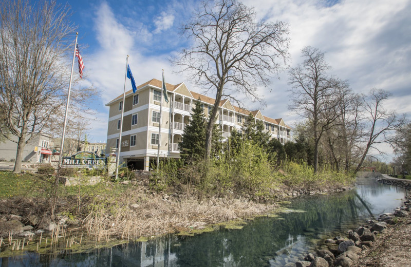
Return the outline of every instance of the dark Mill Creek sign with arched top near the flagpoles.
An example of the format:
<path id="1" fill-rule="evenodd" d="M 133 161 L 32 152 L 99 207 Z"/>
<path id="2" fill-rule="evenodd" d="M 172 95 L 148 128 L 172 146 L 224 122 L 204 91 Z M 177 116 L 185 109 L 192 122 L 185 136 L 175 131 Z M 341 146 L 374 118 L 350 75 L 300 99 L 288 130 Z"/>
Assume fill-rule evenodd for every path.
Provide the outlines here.
<path id="1" fill-rule="evenodd" d="M 65 167 L 100 167 L 107 165 L 107 157 L 81 151 L 71 157 L 63 157 L 62 165 Z"/>

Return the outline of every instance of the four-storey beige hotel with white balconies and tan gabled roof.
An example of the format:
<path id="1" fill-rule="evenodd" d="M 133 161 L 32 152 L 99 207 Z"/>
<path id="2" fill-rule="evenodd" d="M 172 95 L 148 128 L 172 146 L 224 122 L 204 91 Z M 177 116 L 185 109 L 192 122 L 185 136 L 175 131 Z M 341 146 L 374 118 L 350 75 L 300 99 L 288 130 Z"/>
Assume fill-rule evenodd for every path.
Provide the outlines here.
<path id="1" fill-rule="evenodd" d="M 209 116 L 214 99 L 190 91 L 184 83 L 166 84 L 169 103 L 162 103 L 161 144 L 159 144 L 161 81 L 152 79 L 137 86 L 106 104 L 109 106 L 107 148 L 118 148 L 121 145 L 120 162 L 127 162 L 134 169 L 148 170 L 150 162 L 157 160 L 157 149 L 160 146 L 160 157 L 179 158 L 178 144 L 186 124 L 189 123 L 192 108 L 200 99 L 206 117 Z M 124 108 L 121 144 L 119 144 L 121 112 Z M 272 119 L 263 116 L 260 110 L 248 111 L 234 106 L 228 99 L 221 100 L 216 123 L 220 125 L 223 137 L 229 137 L 233 128 L 241 129 L 246 117 L 252 113 L 256 120 L 266 125 L 272 138 L 282 144 L 290 140 L 291 128 L 283 119 Z"/>

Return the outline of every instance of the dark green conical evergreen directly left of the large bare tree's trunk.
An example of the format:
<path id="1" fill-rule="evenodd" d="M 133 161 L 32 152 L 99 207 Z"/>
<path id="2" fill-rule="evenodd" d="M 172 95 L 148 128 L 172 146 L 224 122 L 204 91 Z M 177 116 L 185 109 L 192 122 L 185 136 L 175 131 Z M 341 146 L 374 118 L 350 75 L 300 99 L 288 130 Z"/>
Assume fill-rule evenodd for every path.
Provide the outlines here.
<path id="1" fill-rule="evenodd" d="M 179 145 L 180 157 L 187 163 L 189 160 L 198 161 L 206 153 L 206 117 L 198 99 L 192 113 L 190 124 L 186 125 Z"/>

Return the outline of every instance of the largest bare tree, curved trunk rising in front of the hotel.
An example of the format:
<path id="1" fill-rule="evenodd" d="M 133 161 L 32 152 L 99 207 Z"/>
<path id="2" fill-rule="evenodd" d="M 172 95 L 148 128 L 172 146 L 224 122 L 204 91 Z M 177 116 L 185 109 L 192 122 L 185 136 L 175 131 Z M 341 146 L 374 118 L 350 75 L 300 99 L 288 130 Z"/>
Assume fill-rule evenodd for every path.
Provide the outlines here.
<path id="1" fill-rule="evenodd" d="M 206 156 L 210 157 L 221 97 L 235 99 L 234 93 L 240 92 L 259 100 L 257 86 L 268 85 L 269 75 L 288 58 L 288 26 L 256 21 L 253 8 L 237 0 L 220 0 L 203 2 L 182 30 L 194 44 L 172 63 L 181 66 L 180 72 L 190 73 L 196 84 L 215 90 L 206 137 Z"/>

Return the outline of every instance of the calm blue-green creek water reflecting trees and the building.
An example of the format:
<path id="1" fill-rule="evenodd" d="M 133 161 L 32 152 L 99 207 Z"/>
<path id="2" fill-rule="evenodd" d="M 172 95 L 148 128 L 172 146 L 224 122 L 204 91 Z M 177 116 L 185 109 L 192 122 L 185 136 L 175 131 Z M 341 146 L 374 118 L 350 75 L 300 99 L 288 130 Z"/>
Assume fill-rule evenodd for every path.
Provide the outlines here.
<path id="1" fill-rule="evenodd" d="M 242 230 L 220 229 L 194 237 L 166 236 L 90 253 L 0 259 L 1 266 L 284 266 L 302 259 L 322 239 L 356 227 L 401 204 L 405 190 L 361 179 L 341 194 L 294 199 L 305 213 L 260 217 Z"/>

